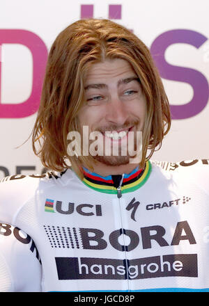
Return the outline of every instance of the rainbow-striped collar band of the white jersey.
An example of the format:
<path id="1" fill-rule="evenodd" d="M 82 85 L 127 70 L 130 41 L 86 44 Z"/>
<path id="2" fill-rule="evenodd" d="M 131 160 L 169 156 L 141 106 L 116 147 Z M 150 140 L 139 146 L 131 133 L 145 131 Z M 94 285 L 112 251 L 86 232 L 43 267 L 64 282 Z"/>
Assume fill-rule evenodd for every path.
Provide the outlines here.
<path id="1" fill-rule="evenodd" d="M 123 183 L 121 185 L 122 193 L 128 193 L 137 190 L 147 181 L 151 172 L 151 163 L 146 161 L 144 170 L 139 169 L 139 166 L 135 168 L 130 174 L 125 174 L 123 177 Z M 111 193 L 116 194 L 117 189 L 114 186 L 113 179 L 111 175 L 107 177 L 102 177 L 94 172 L 89 171 L 87 168 L 83 167 L 84 170 L 84 184 L 86 186 L 94 189 L 95 191 L 100 191 L 101 193 Z"/>

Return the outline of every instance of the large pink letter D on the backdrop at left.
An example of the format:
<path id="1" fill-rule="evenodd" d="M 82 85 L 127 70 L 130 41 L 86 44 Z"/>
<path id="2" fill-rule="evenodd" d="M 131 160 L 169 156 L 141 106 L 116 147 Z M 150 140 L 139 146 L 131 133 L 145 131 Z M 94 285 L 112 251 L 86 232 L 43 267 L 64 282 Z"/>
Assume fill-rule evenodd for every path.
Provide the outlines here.
<path id="1" fill-rule="evenodd" d="M 33 56 L 33 86 L 29 99 L 19 104 L 1 104 L 0 118 L 24 118 L 36 113 L 40 104 L 42 80 L 47 62 L 47 47 L 38 35 L 26 30 L 0 30 L 0 47 L 2 44 L 21 44 L 29 48 Z M 1 84 L 1 63 L 0 63 Z"/>

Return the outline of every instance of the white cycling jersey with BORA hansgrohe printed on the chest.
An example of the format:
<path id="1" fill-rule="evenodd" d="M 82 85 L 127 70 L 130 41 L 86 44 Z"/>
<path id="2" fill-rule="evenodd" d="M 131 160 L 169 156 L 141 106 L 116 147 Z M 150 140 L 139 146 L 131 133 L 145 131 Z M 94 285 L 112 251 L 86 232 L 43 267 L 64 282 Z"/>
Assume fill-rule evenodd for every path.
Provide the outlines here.
<path id="1" fill-rule="evenodd" d="M 8 223 L 33 239 L 42 291 L 209 291 L 208 162 L 147 161 L 143 171 L 107 177 L 84 168 L 83 182 L 70 169 L 6 177 L 1 232 Z M 32 255 L 23 273 L 32 284 L 40 261 L 22 245 L 18 273 Z"/>

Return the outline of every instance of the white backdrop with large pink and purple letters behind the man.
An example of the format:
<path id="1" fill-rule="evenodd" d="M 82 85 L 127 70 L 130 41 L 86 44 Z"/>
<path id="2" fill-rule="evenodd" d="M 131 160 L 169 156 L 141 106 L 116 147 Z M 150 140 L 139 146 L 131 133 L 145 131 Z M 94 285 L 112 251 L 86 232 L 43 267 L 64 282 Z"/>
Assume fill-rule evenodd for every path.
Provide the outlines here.
<path id="1" fill-rule="evenodd" d="M 163 42 L 168 40 L 168 47 L 162 57 L 167 66 L 161 65 L 159 69 L 169 102 L 183 106 L 194 97 L 195 101 L 193 106 L 188 104 L 186 112 L 177 108 L 171 131 L 153 159 L 209 157 L 208 0 L 0 0 L 0 3 L 0 178 L 17 172 L 42 171 L 31 149 L 31 138 L 19 149 L 15 147 L 29 137 L 35 122 L 43 68 L 52 42 L 66 26 L 85 17 L 85 12 L 90 17 L 109 18 L 127 26 L 148 47 L 155 42 L 151 50 L 156 56 L 162 51 L 160 35 L 167 33 Z M 195 115 L 191 115 L 192 109 Z"/>

